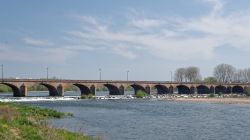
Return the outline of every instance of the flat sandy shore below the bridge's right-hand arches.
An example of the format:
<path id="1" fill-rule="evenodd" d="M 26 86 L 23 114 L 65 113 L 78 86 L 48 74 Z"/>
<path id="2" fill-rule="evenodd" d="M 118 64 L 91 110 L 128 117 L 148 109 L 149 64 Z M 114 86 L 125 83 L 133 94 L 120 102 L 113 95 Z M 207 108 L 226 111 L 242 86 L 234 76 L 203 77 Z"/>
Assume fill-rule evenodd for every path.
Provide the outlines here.
<path id="1" fill-rule="evenodd" d="M 250 104 L 250 98 L 174 98 L 174 101 L 222 104 Z"/>

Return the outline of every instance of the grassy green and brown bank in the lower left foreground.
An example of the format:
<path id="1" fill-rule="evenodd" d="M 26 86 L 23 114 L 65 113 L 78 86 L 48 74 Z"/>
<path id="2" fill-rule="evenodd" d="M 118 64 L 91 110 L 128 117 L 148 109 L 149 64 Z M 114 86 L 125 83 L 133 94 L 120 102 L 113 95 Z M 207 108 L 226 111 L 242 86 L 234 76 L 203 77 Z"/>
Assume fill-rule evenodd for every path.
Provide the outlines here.
<path id="1" fill-rule="evenodd" d="M 56 129 L 46 122 L 65 114 L 51 109 L 0 102 L 1 140 L 91 140 L 79 133 Z"/>

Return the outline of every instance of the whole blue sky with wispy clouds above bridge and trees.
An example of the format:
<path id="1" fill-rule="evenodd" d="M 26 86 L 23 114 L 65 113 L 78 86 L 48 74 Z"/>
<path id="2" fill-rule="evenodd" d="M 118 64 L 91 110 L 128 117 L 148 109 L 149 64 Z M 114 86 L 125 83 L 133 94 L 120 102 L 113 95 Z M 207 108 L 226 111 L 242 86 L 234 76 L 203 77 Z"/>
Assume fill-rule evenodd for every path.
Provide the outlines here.
<path id="1" fill-rule="evenodd" d="M 169 81 L 249 68 L 247 0 L 1 0 L 4 77 Z"/>

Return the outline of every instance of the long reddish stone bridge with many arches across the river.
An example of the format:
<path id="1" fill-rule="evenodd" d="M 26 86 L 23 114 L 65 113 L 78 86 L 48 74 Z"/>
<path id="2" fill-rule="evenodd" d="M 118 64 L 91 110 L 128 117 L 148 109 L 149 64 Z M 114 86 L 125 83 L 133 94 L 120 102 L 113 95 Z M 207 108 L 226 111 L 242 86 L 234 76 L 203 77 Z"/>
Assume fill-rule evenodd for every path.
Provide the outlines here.
<path id="1" fill-rule="evenodd" d="M 141 90 L 150 94 L 244 94 L 249 83 L 178 83 L 164 81 L 112 81 L 112 80 L 43 80 L 43 79 L 3 79 L 0 84 L 9 86 L 13 96 L 24 97 L 28 94 L 28 88 L 34 85 L 47 87 L 50 96 L 64 96 L 64 88 L 76 86 L 81 95 L 95 95 L 97 88 L 106 87 L 110 95 L 124 95 L 127 87 L 132 87 L 134 92 Z"/>

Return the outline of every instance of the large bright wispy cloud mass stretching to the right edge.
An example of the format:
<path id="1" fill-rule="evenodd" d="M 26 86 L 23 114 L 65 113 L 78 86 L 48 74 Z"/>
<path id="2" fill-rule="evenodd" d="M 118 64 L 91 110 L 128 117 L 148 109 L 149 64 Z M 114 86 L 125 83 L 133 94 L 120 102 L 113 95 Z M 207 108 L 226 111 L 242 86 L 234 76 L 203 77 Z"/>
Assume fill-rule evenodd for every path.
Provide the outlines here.
<path id="1" fill-rule="evenodd" d="M 138 18 L 137 12 L 136 17 L 130 16 L 128 22 L 116 30 L 112 30 L 112 25 L 103 24 L 94 17 L 83 16 L 83 19 L 89 19 L 82 20 L 84 28 L 71 31 L 69 35 L 77 38 L 82 46 L 94 50 L 102 46 L 104 50 L 110 49 L 128 59 L 135 59 L 139 55 L 137 47 L 143 48 L 140 53 L 177 60 L 213 59 L 215 49 L 226 44 L 249 48 L 250 12 L 222 14 L 224 5 L 221 0 L 202 1 L 212 6 L 205 16 L 188 19 Z"/>

